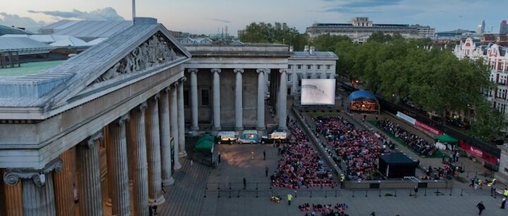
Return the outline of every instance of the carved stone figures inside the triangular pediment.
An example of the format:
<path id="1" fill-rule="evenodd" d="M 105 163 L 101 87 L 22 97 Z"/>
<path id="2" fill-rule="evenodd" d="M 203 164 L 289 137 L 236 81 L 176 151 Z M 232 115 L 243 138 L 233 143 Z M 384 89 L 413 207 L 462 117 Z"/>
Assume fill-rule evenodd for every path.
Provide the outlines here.
<path id="1" fill-rule="evenodd" d="M 176 51 L 175 51 L 176 49 Z M 155 68 L 183 56 L 183 53 L 169 42 L 163 34 L 158 32 L 146 42 L 136 47 L 121 61 L 114 64 L 103 75 L 97 78 L 94 83 L 114 79 L 119 75 L 133 74 Z"/>

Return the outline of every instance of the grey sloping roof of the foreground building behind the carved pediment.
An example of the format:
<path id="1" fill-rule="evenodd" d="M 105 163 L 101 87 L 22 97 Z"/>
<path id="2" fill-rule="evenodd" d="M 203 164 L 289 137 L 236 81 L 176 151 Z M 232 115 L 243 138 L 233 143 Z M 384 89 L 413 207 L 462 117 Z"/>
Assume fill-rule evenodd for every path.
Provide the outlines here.
<path id="1" fill-rule="evenodd" d="M 175 61 L 191 57 L 190 53 L 171 37 L 169 30 L 158 24 L 157 20 L 152 20 L 154 21 L 140 20 L 142 22 L 139 24 L 131 25 L 45 72 L 23 77 L 0 77 L 0 107 L 51 109 L 55 103 L 78 94 L 157 32 L 166 35 L 176 48 L 183 52 L 185 58 Z"/>

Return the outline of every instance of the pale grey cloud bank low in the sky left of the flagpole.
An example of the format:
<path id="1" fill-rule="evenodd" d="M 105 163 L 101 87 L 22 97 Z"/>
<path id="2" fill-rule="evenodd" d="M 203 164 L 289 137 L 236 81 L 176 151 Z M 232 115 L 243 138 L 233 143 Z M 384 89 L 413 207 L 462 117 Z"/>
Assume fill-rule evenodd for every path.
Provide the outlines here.
<path id="1" fill-rule="evenodd" d="M 80 20 L 125 20 L 116 10 L 111 7 L 85 12 L 74 9 L 73 11 L 28 11 L 30 13 L 42 13 L 54 18 L 76 18 Z"/>

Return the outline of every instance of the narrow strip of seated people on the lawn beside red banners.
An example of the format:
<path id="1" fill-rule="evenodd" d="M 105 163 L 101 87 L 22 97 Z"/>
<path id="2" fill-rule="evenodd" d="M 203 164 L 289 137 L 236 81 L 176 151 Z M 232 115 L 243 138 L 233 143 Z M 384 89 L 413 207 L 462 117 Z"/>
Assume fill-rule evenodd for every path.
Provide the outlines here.
<path id="1" fill-rule="evenodd" d="M 413 150 L 421 156 L 430 157 L 437 152 L 437 149 L 433 144 L 430 144 L 425 139 L 407 131 L 390 120 L 378 120 L 377 125 L 380 129 L 403 141 L 406 146 L 413 148 Z"/>

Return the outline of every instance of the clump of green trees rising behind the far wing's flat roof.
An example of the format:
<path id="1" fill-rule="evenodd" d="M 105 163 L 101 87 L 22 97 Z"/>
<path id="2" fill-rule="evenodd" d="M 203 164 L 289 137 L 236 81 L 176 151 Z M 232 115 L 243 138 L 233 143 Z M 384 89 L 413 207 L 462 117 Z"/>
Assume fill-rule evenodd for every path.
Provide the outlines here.
<path id="1" fill-rule="evenodd" d="M 239 37 L 242 42 L 287 44 L 295 50 L 307 44 L 307 34 L 298 33 L 286 23 L 250 23 Z"/>

